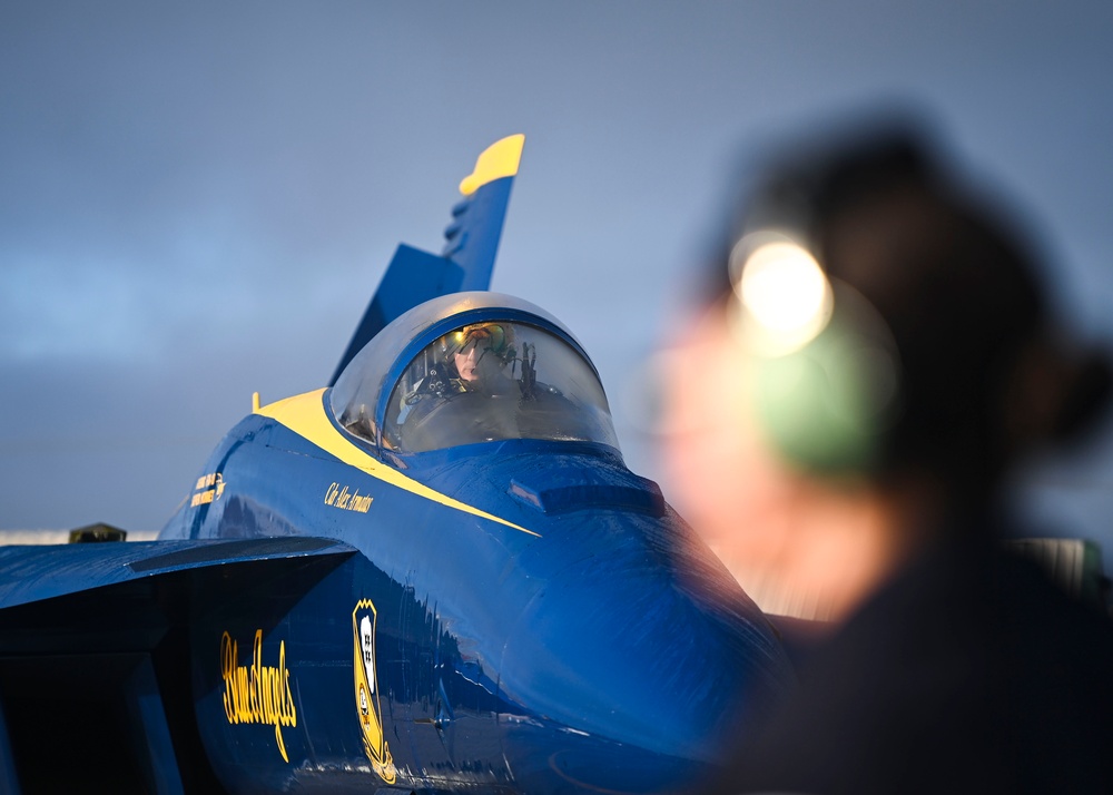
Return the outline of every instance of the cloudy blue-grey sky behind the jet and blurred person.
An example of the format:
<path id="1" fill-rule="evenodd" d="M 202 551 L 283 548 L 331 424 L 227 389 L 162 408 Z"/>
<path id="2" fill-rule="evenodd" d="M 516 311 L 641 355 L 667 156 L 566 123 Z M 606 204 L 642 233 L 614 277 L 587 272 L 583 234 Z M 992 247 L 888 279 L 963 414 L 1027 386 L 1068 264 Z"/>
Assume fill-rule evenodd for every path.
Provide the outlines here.
<path id="1" fill-rule="evenodd" d="M 0 528 L 160 528 L 254 391 L 325 385 L 513 132 L 493 287 L 580 338 L 667 498 L 647 360 L 782 136 L 919 109 L 1113 340 L 1111 40 L 1077 1 L 0 4 Z M 1113 429 L 1025 482 L 1113 570 Z"/>

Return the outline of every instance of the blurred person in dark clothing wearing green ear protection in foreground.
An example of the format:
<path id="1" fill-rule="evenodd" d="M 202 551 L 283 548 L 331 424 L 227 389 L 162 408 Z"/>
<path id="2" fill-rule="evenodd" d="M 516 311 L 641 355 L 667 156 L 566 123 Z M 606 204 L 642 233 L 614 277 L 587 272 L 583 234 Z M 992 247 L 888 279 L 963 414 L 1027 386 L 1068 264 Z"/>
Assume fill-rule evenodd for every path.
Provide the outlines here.
<path id="1" fill-rule="evenodd" d="M 701 792 L 1113 792 L 1109 615 L 1001 543 L 1006 475 L 1110 365 L 936 158 L 906 127 L 789 153 L 732 238 L 712 541 L 821 580 L 830 630 Z"/>

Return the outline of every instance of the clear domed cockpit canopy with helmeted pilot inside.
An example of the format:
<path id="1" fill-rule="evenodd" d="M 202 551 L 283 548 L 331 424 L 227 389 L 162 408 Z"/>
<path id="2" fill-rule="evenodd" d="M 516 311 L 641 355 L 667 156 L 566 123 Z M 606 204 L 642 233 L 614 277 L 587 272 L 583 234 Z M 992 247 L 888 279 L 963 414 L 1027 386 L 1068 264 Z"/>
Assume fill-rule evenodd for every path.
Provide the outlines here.
<path id="1" fill-rule="evenodd" d="M 398 452 L 542 439 L 618 448 L 594 367 L 563 326 L 496 293 L 457 293 L 391 323 L 331 392 L 351 433 Z"/>

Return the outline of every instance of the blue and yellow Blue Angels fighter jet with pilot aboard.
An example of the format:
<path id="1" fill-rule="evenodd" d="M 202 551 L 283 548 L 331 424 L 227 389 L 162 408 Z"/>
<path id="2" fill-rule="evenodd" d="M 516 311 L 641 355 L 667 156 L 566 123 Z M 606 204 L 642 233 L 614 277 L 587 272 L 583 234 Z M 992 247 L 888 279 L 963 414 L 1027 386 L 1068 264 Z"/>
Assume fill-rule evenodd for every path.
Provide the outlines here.
<path id="1" fill-rule="evenodd" d="M 0 792 L 686 792 L 791 686 L 580 343 L 487 292 L 523 140 L 159 540 L 0 549 Z"/>

